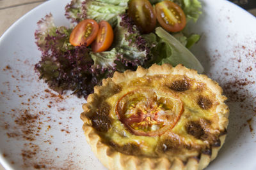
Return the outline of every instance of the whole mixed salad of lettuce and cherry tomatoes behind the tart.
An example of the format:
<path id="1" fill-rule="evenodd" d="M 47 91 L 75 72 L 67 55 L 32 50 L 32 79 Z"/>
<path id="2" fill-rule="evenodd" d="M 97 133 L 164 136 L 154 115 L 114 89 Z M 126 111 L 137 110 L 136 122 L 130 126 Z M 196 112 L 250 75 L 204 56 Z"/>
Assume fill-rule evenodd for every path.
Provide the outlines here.
<path id="1" fill-rule="evenodd" d="M 51 89 L 78 97 L 115 71 L 138 66 L 184 64 L 202 73 L 189 51 L 200 36 L 186 29 L 200 9 L 198 0 L 72 0 L 65 7 L 70 27 L 54 25 L 51 13 L 38 22 L 42 56 L 35 69 Z"/>

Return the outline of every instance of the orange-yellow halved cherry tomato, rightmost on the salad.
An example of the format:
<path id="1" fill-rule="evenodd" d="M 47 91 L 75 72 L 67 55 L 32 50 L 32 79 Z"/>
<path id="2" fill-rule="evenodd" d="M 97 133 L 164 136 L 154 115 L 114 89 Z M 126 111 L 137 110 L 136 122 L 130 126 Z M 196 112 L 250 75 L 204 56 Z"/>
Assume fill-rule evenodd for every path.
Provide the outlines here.
<path id="1" fill-rule="evenodd" d="M 159 24 L 170 32 L 178 32 L 186 25 L 186 16 L 178 4 L 162 1 L 156 4 L 156 18 Z"/>

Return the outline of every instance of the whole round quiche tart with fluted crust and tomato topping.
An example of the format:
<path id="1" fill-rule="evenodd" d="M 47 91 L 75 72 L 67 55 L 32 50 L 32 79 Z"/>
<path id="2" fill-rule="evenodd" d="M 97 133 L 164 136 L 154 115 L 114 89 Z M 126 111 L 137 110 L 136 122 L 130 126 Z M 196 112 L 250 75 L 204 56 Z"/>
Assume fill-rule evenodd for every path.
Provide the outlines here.
<path id="1" fill-rule="evenodd" d="M 108 169 L 204 169 L 225 141 L 227 97 L 193 69 L 138 67 L 116 72 L 94 91 L 81 119 Z"/>

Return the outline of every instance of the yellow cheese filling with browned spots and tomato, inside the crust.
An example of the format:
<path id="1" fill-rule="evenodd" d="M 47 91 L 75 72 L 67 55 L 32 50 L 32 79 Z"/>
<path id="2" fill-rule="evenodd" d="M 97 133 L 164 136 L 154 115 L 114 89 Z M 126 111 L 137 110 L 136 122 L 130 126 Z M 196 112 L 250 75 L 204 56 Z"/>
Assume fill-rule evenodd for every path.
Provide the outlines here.
<path id="1" fill-rule="evenodd" d="M 196 156 L 195 150 L 218 142 L 218 102 L 202 83 L 157 75 L 118 85 L 122 90 L 105 99 L 111 128 L 100 136 L 119 152 L 152 157 L 186 150 Z"/>

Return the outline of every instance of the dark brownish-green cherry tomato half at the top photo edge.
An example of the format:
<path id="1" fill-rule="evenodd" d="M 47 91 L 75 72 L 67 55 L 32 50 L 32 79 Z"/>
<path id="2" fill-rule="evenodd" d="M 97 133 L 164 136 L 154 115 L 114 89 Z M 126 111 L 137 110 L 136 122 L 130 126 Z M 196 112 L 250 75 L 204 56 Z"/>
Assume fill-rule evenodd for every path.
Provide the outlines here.
<path id="1" fill-rule="evenodd" d="M 142 29 L 143 33 L 152 32 L 156 27 L 156 15 L 148 0 L 131 0 L 128 15 Z"/>

